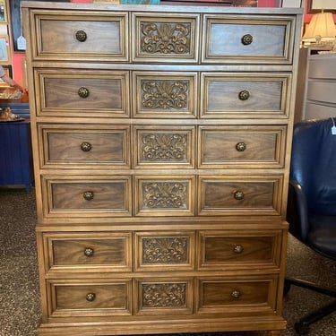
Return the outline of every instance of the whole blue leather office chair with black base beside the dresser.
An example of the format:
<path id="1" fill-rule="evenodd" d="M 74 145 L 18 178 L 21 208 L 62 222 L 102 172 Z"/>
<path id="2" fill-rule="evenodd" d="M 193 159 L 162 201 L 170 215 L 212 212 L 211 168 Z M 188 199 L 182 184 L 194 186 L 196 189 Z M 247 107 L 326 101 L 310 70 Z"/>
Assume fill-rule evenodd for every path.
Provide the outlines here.
<path id="1" fill-rule="evenodd" d="M 307 120 L 294 126 L 289 176 L 287 220 L 289 232 L 318 254 L 336 260 L 336 116 Z M 308 263 L 309 261 L 307 261 Z M 291 285 L 336 297 L 336 289 L 305 280 L 285 280 Z M 316 309 L 295 323 L 298 334 L 336 310 L 336 300 Z"/>

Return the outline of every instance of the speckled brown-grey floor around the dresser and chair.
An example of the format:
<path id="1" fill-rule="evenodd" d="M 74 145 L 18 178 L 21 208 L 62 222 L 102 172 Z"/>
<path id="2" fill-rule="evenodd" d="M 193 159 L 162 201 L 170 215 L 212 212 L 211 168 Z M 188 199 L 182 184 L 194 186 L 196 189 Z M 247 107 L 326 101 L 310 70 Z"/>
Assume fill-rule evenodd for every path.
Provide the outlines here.
<path id="1" fill-rule="evenodd" d="M 0 336 L 37 335 L 39 282 L 35 215 L 34 190 L 26 194 L 24 189 L 0 188 Z M 336 263 L 314 254 L 290 236 L 287 273 L 336 288 Z M 293 287 L 284 300 L 283 314 L 288 320 L 288 329 L 282 336 L 295 335 L 295 320 L 326 299 L 323 295 Z M 222 332 L 220 335 L 262 336 L 264 333 Z M 336 313 L 315 323 L 309 333 L 309 336 L 335 335 Z"/>

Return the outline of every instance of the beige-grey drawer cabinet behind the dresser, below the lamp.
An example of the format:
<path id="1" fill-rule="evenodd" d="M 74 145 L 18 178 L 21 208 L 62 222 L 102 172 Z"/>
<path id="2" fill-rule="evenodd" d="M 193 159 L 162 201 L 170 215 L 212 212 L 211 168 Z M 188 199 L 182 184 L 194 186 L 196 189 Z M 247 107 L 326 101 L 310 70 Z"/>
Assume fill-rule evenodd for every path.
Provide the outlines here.
<path id="1" fill-rule="evenodd" d="M 336 116 L 336 53 L 300 49 L 295 121 Z"/>

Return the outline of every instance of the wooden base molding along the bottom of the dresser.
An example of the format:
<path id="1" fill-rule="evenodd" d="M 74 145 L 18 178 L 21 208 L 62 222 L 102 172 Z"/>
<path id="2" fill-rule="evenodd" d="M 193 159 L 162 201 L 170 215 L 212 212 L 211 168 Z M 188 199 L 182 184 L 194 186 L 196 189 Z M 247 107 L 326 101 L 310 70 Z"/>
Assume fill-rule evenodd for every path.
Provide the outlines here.
<path id="1" fill-rule="evenodd" d="M 253 327 L 252 327 L 253 326 Z M 136 321 L 120 323 L 41 323 L 39 336 L 108 336 L 135 335 L 180 332 L 248 332 L 265 330 L 267 336 L 280 336 L 286 328 L 286 321 L 281 316 L 239 317 L 228 319 L 194 319 L 165 321 Z"/>

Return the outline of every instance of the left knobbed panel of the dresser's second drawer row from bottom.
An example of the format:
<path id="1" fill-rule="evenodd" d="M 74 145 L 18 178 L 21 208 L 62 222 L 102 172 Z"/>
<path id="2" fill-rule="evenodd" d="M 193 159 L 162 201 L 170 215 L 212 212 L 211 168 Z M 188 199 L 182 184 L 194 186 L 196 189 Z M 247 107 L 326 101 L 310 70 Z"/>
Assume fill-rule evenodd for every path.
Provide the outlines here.
<path id="1" fill-rule="evenodd" d="M 45 233 L 46 270 L 132 271 L 131 233 Z"/>

